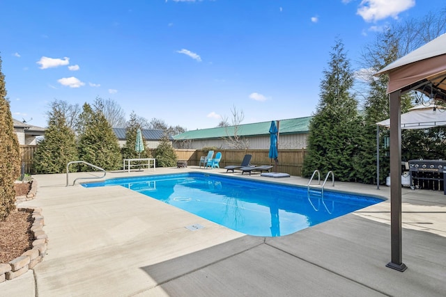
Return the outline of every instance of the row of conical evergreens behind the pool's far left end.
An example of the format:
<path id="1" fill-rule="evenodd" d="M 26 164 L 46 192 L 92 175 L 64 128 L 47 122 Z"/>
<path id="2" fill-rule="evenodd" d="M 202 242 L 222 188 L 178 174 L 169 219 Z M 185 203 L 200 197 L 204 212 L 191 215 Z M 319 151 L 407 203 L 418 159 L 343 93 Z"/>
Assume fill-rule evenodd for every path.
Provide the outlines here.
<path id="1" fill-rule="evenodd" d="M 50 107 L 45 138 L 38 142 L 34 153 L 33 168 L 36 173 L 66 172 L 67 163 L 77 160 L 105 170 L 118 170 L 122 167 L 123 159 L 152 157 L 150 150 L 141 153 L 134 150 L 137 130 L 143 128 L 141 119 L 134 112 L 130 114 L 130 120 L 125 122 L 126 142 L 120 148 L 112 124 L 106 117 L 107 104 L 101 98 L 96 98 L 92 105 L 85 103 L 79 113 L 76 106 L 63 101 L 54 100 Z M 113 119 L 117 120 L 118 117 Z M 153 151 L 153 157 L 157 159 L 157 166 L 175 165 L 176 155 L 167 132 Z M 72 171 L 91 170 L 82 164 L 72 166 Z"/>

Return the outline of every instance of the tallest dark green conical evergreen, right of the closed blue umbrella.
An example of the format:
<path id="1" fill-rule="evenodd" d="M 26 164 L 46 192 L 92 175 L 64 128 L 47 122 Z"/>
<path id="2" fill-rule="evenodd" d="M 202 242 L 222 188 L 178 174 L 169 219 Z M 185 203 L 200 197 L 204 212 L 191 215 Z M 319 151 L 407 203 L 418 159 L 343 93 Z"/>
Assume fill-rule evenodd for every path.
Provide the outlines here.
<path id="1" fill-rule="evenodd" d="M 316 169 L 325 175 L 332 170 L 337 179 L 353 181 L 352 158 L 357 154 L 361 131 L 357 101 L 350 93 L 353 72 L 341 40 L 336 41 L 330 56 L 329 70 L 323 72 L 316 114 L 310 122 L 302 175 L 308 177 Z"/>

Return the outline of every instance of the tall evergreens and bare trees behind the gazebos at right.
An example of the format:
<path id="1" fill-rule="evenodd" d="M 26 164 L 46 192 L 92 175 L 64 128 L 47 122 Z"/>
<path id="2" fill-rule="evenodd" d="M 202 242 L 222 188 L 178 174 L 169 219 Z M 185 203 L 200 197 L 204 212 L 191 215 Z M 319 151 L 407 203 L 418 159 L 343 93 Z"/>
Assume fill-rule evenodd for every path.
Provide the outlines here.
<path id="1" fill-rule="evenodd" d="M 376 122 L 390 115 L 386 94 L 388 77 L 373 74 L 445 33 L 445 13 L 446 9 L 438 10 L 420 20 L 392 24 L 377 33 L 376 40 L 362 50 L 361 72 L 352 70 L 342 40 L 335 41 L 321 79 L 318 106 L 310 122 L 302 175 L 309 177 L 316 169 L 324 175 L 331 170 L 341 181 L 376 183 Z M 429 98 L 424 95 L 406 93 L 401 97 L 401 111 L 428 103 Z M 389 147 L 385 147 L 388 135 L 387 129 L 379 132 L 381 184 L 390 172 Z M 401 139 L 403 160 L 445 157 L 444 127 L 403 130 Z"/>

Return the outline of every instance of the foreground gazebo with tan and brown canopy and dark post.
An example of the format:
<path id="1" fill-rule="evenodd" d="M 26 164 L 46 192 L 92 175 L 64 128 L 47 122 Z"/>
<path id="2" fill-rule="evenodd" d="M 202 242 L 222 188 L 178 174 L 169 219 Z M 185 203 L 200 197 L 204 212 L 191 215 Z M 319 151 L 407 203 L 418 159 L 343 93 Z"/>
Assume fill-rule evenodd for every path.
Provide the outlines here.
<path id="1" fill-rule="evenodd" d="M 446 102 L 446 34 L 415 49 L 376 72 L 387 74 L 390 94 L 390 180 L 401 179 L 401 95 L 417 90 Z M 405 271 L 401 239 L 401 182 L 390 184 L 391 261 L 387 267 Z"/>

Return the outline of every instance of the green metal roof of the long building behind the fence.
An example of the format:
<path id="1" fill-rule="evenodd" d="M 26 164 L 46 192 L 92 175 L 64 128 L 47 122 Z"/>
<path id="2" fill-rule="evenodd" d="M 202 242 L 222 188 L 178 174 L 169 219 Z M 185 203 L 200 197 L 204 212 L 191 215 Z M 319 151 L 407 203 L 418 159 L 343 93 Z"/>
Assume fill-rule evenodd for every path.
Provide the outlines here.
<path id="1" fill-rule="evenodd" d="M 288 120 L 279 120 L 279 134 L 305 134 L 309 131 L 309 122 L 313 117 L 293 118 Z M 238 136 L 252 137 L 269 135 L 271 122 L 256 122 L 229 127 L 217 127 L 209 129 L 199 129 L 185 131 L 182 134 L 174 136 L 176 141 L 185 141 L 188 139 L 210 139 L 233 136 L 237 129 Z"/>

